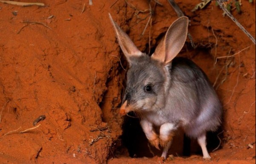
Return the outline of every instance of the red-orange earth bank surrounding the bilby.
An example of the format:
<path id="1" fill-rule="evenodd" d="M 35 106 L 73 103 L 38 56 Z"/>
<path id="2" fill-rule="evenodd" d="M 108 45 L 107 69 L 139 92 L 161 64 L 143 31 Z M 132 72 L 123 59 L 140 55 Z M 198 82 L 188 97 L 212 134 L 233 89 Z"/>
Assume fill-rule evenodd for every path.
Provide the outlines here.
<path id="1" fill-rule="evenodd" d="M 122 146 L 126 64 L 108 12 L 152 53 L 177 19 L 168 1 L 38 2 L 45 6 L 0 3 L 0 163 L 106 163 L 114 156 L 107 163 L 158 163 L 130 158 Z M 255 163 L 255 45 L 214 3 L 191 12 L 200 1 L 176 2 L 191 20 L 196 46 L 187 39 L 180 55 L 206 72 L 223 103 L 221 149 L 210 155 L 219 163 Z M 241 11 L 232 14 L 255 37 L 255 2 L 242 1 Z M 41 115 L 39 127 L 20 133 Z M 153 149 L 144 144 L 142 157 Z M 200 155 L 174 160 L 202 162 Z"/>

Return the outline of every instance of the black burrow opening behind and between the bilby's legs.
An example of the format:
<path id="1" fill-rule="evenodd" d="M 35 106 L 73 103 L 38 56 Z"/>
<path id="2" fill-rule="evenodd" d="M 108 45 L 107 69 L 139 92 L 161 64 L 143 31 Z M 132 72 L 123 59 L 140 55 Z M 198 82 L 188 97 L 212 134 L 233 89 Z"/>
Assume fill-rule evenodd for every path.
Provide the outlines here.
<path id="1" fill-rule="evenodd" d="M 139 118 L 136 118 L 136 115 L 132 112 L 130 112 L 129 115 L 132 117 L 125 116 L 122 127 L 123 135 L 121 136 L 121 140 L 123 149 L 127 149 L 129 156 L 132 158 L 152 158 L 154 156 L 160 157 L 162 151 L 150 145 L 144 132 L 142 131 Z M 221 145 L 219 146 L 219 138 L 222 138 L 221 132 L 222 129 L 220 127 L 217 132 L 207 133 L 207 149 L 209 153 L 211 153 L 217 147 L 218 149 L 221 149 Z M 170 154 L 182 157 L 191 156 L 193 154 L 202 156 L 202 151 L 196 139 L 190 139 L 184 134 L 182 129 L 178 129 L 175 132 L 172 146 L 168 151 L 168 155 Z"/>

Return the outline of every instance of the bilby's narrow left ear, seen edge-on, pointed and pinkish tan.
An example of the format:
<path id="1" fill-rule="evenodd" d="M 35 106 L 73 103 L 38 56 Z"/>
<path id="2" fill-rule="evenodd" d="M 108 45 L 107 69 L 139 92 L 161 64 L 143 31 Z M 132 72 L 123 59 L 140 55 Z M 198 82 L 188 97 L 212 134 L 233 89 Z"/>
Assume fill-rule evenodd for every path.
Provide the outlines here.
<path id="1" fill-rule="evenodd" d="M 127 58 L 129 64 L 131 64 L 130 58 L 132 56 L 140 56 L 143 53 L 134 45 L 130 37 L 115 23 L 115 21 L 112 19 L 110 13 L 109 18 L 115 28 L 115 34 L 118 39 L 119 45 Z"/>

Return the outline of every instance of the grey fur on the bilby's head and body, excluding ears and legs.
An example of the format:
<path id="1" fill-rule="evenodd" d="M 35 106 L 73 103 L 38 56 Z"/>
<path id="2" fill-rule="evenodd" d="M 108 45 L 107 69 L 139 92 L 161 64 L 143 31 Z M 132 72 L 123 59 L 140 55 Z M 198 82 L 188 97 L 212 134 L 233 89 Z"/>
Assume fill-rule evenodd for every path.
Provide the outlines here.
<path id="1" fill-rule="evenodd" d="M 161 63 L 148 55 L 134 57 L 133 60 L 134 64 L 127 72 L 123 102 L 127 100 L 135 112 L 156 126 L 174 123 L 191 137 L 197 138 L 204 132 L 217 130 L 221 123 L 222 105 L 207 76 L 194 62 L 186 58 L 173 59 L 168 70 L 168 93 L 165 94 Z M 151 93 L 144 92 L 146 84 L 152 84 Z M 150 99 L 151 108 L 136 105 L 137 101 L 146 98 Z M 152 115 L 159 119 L 151 119 Z"/>

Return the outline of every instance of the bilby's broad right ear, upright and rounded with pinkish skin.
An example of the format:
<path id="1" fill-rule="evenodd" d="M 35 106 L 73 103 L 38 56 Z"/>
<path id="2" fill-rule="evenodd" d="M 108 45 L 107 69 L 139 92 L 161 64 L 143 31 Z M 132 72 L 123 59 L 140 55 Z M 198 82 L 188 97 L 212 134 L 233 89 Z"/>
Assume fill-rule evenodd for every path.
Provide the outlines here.
<path id="1" fill-rule="evenodd" d="M 187 37 L 188 18 L 183 16 L 175 20 L 168 28 L 164 39 L 156 47 L 151 58 L 169 63 L 180 52 Z"/>

